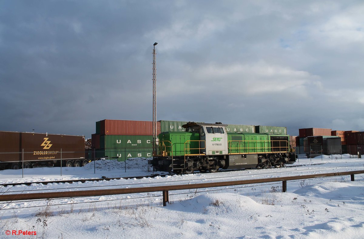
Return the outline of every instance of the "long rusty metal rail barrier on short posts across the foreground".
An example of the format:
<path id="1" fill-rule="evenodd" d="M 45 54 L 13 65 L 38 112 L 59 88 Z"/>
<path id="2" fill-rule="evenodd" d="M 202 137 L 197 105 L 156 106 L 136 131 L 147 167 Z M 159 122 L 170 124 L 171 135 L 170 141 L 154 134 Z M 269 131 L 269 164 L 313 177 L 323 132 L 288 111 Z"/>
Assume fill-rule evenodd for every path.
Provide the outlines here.
<path id="1" fill-rule="evenodd" d="M 320 173 L 320 174 L 314 174 L 314 175 L 276 177 L 276 178 L 269 178 L 269 179 L 225 181 L 225 182 L 215 182 L 215 183 L 163 185 L 163 186 L 154 186 L 154 187 L 100 189 L 100 190 L 85 190 L 85 191 L 81 190 L 81 191 L 71 191 L 71 192 L 3 194 L 3 195 L 0 195 L 0 201 L 56 199 L 56 198 L 85 197 L 85 196 L 91 197 L 91 196 L 106 196 L 106 195 L 119 195 L 119 194 L 131 194 L 131 193 L 162 192 L 163 206 L 166 206 L 167 202 L 169 201 L 169 196 L 168 196 L 169 191 L 198 189 L 198 188 L 226 187 L 226 186 L 234 186 L 234 185 L 259 184 L 259 183 L 270 183 L 270 182 L 280 182 L 281 181 L 282 182 L 282 192 L 287 192 L 287 181 L 290 181 L 290 180 L 351 175 L 351 181 L 354 181 L 354 175 L 363 174 L 363 173 L 364 173 L 364 170 L 359 170 L 359 171 L 349 171 L 349 172 Z"/>

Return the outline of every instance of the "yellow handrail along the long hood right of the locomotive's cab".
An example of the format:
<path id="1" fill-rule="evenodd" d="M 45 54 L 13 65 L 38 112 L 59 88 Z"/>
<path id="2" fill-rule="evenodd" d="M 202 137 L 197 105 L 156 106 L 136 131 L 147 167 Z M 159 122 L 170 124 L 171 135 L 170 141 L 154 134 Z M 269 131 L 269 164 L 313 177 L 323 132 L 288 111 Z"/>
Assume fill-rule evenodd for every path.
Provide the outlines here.
<path id="1" fill-rule="evenodd" d="M 240 143 L 241 142 L 244 142 L 244 145 L 246 146 L 246 145 L 248 145 L 248 147 L 241 147 L 240 145 Z M 264 146 L 261 146 L 261 147 L 258 147 L 258 142 L 260 143 L 260 144 L 263 144 L 262 142 L 264 142 Z M 273 146 L 272 144 L 272 146 L 266 146 L 266 143 L 267 144 L 269 144 L 269 142 L 279 142 L 279 146 Z M 288 146 L 281 146 L 281 142 L 285 142 L 286 143 L 286 145 L 288 145 Z M 235 143 L 235 144 L 239 144 L 239 147 L 232 147 L 231 145 L 233 144 L 233 143 Z M 249 144 L 256 144 L 256 147 L 249 147 Z M 269 149 L 271 149 L 270 151 L 266 151 L 266 150 L 269 150 L 269 149 L 267 149 L 267 148 L 269 148 Z M 275 148 L 278 148 L 279 150 L 278 151 L 275 151 L 274 149 Z M 286 151 L 282 151 L 281 149 L 286 149 Z M 232 153 L 232 149 L 236 149 L 236 150 L 238 150 L 239 152 L 237 152 L 237 153 Z M 249 150 L 250 149 L 256 149 L 256 152 L 249 152 Z M 289 152 L 289 144 L 288 144 L 288 141 L 286 141 L 286 140 L 229 140 L 229 141 L 227 141 L 227 152 L 228 152 L 228 154 L 242 154 L 242 153 L 259 153 L 258 152 L 258 149 L 260 149 L 260 150 L 262 150 L 262 149 L 264 149 L 264 153 L 286 153 L 286 152 Z M 230 150 L 230 153 L 229 153 L 229 150 Z M 248 152 L 241 152 L 241 151 L 248 151 Z M 261 152 L 261 153 L 263 153 L 263 152 Z"/>

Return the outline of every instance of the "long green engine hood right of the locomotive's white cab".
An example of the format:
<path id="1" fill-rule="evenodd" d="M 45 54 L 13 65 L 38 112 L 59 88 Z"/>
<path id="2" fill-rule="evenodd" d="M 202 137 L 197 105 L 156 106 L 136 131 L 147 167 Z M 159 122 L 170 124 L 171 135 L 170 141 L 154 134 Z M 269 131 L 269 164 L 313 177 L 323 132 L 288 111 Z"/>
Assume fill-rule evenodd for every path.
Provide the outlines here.
<path id="1" fill-rule="evenodd" d="M 227 133 L 229 153 L 264 153 L 270 152 L 270 142 L 267 134 Z"/>

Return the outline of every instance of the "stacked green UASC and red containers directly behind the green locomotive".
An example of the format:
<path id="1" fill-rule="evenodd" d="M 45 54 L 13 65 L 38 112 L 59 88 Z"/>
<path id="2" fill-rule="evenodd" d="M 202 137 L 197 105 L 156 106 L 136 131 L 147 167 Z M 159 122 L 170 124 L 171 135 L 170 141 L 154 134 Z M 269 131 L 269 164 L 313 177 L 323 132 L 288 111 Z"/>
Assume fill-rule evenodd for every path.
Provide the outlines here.
<path id="1" fill-rule="evenodd" d="M 182 125 L 189 121 L 157 121 L 157 135 L 162 132 L 184 132 Z M 202 123 L 202 122 L 200 122 Z M 227 133 L 287 134 L 286 127 L 232 125 Z M 124 161 L 127 158 L 149 158 L 153 153 L 153 122 L 104 119 L 96 122 L 96 133 L 91 135 L 93 158 L 109 158 Z"/>

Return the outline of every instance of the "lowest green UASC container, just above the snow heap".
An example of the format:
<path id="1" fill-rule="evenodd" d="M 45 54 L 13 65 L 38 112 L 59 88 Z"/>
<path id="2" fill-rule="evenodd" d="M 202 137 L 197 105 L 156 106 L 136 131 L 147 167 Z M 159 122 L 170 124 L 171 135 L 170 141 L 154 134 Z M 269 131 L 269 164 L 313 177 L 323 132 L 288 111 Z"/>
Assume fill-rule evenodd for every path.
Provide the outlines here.
<path id="1" fill-rule="evenodd" d="M 128 158 L 150 158 L 152 149 L 98 149 L 96 158 L 125 161 Z"/>

